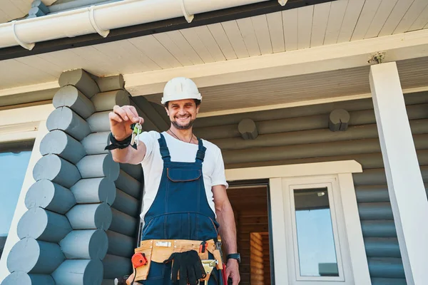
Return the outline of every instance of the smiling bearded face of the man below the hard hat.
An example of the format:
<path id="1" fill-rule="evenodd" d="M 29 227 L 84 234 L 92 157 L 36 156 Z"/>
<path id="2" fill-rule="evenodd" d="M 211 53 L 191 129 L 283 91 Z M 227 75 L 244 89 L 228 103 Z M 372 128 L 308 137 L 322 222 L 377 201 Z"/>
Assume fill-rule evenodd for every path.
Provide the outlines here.
<path id="1" fill-rule="evenodd" d="M 199 106 L 196 106 L 193 99 L 183 99 L 170 101 L 168 108 L 165 107 L 165 109 L 175 128 L 178 130 L 188 130 L 193 126 Z"/>

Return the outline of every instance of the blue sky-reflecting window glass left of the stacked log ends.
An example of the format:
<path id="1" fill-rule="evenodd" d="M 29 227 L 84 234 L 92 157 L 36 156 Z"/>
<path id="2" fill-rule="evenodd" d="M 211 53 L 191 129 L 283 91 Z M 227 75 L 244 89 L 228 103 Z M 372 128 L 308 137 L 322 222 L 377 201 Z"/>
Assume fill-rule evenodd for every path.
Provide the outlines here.
<path id="1" fill-rule="evenodd" d="M 9 232 L 30 156 L 28 147 L 13 151 L 0 149 L 0 237 L 6 237 Z"/>

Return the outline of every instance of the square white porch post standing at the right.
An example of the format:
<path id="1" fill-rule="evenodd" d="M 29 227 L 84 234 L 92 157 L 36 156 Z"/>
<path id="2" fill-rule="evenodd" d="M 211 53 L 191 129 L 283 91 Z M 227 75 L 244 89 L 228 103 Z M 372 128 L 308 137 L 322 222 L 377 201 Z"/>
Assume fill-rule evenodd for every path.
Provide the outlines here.
<path id="1" fill-rule="evenodd" d="M 370 68 L 374 114 L 408 285 L 428 284 L 428 201 L 397 64 Z"/>

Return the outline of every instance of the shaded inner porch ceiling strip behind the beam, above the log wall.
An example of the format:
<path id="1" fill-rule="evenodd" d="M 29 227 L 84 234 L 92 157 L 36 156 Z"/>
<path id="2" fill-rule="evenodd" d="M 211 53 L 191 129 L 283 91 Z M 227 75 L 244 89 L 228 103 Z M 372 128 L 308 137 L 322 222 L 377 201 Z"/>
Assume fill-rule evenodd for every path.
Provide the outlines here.
<path id="1" fill-rule="evenodd" d="M 397 62 L 404 92 L 426 88 L 428 57 Z M 369 66 L 310 73 L 301 76 L 272 78 L 262 81 L 234 83 L 200 88 L 203 95 L 201 116 L 222 115 L 266 110 L 301 101 L 343 98 L 359 95 L 370 97 Z M 424 89 L 423 89 L 424 90 Z M 161 102 L 162 94 L 146 95 L 154 103 Z"/>

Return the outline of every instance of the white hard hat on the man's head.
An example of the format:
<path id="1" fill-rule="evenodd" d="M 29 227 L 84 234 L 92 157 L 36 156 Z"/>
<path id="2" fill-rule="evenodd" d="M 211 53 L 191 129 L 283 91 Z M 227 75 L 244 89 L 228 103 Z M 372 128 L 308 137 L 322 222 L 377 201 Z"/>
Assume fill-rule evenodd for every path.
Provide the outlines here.
<path id="1" fill-rule="evenodd" d="M 189 78 L 175 77 L 168 81 L 163 88 L 162 105 L 172 100 L 198 99 L 202 100 L 196 84 Z"/>

